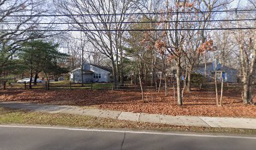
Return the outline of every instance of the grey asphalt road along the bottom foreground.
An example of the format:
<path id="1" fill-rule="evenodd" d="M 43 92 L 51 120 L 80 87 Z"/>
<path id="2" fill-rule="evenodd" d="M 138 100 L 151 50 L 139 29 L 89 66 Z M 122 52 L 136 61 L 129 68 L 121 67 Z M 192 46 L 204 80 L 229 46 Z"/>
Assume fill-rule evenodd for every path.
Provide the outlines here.
<path id="1" fill-rule="evenodd" d="M 253 149 L 256 137 L 0 125 L 1 150 Z"/>

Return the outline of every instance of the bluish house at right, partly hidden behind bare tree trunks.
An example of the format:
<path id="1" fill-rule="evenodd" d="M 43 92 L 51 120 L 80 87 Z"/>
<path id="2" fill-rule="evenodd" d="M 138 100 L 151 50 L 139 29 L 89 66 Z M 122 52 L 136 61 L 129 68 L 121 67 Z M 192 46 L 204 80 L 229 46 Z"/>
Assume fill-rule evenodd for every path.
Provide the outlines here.
<path id="1" fill-rule="evenodd" d="M 207 74 L 207 80 L 208 81 L 214 81 L 215 77 L 215 64 L 216 71 L 217 71 L 217 79 L 220 81 L 221 76 L 223 77 L 223 81 L 227 83 L 237 83 L 238 80 L 238 70 L 234 68 L 230 68 L 228 66 L 221 66 L 221 64 L 217 61 L 216 63 L 206 63 L 206 74 Z M 205 74 L 205 64 L 199 64 L 194 69 L 195 73 L 200 73 L 202 75 Z M 222 72 L 222 74 L 221 74 Z"/>

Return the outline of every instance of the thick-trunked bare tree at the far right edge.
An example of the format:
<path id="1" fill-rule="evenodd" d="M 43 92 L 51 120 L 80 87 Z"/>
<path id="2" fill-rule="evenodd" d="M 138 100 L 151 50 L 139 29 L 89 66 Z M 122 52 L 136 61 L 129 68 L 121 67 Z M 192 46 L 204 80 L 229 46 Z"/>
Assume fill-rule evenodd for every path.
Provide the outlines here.
<path id="1" fill-rule="evenodd" d="M 255 1 L 248 1 L 250 7 L 255 8 Z M 255 16 L 252 14 L 236 14 L 237 18 L 248 18 Z M 256 22 L 237 22 L 237 27 L 255 27 Z M 240 61 L 241 78 L 243 83 L 242 99 L 244 104 L 253 103 L 253 84 L 255 82 L 256 73 L 256 41 L 255 41 L 255 30 L 239 30 L 233 32 L 235 43 L 238 49 L 238 59 Z"/>

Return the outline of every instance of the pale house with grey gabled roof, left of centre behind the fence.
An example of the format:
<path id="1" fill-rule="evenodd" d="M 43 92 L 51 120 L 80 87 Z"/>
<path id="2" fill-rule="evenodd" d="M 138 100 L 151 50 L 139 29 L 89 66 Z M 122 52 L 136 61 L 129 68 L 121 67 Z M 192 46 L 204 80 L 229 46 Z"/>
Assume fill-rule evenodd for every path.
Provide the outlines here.
<path id="1" fill-rule="evenodd" d="M 96 66 L 94 64 L 83 65 L 83 83 L 109 83 L 111 69 L 105 66 Z M 70 72 L 70 81 L 82 83 L 81 68 Z"/>

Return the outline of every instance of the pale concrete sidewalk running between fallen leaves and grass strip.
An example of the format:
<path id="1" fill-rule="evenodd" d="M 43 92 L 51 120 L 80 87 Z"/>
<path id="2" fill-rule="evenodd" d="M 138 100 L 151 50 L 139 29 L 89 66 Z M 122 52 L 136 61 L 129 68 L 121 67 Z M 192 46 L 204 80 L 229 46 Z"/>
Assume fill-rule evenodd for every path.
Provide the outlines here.
<path id="1" fill-rule="evenodd" d="M 0 103 L 0 107 L 29 109 L 46 113 L 80 114 L 99 118 L 113 118 L 146 123 L 174 124 L 181 126 L 203 126 L 215 128 L 256 129 L 256 119 L 252 118 L 217 118 L 201 116 L 169 116 L 163 114 L 131 113 L 102 109 L 83 109 L 77 106 L 46 105 L 19 102 Z"/>

